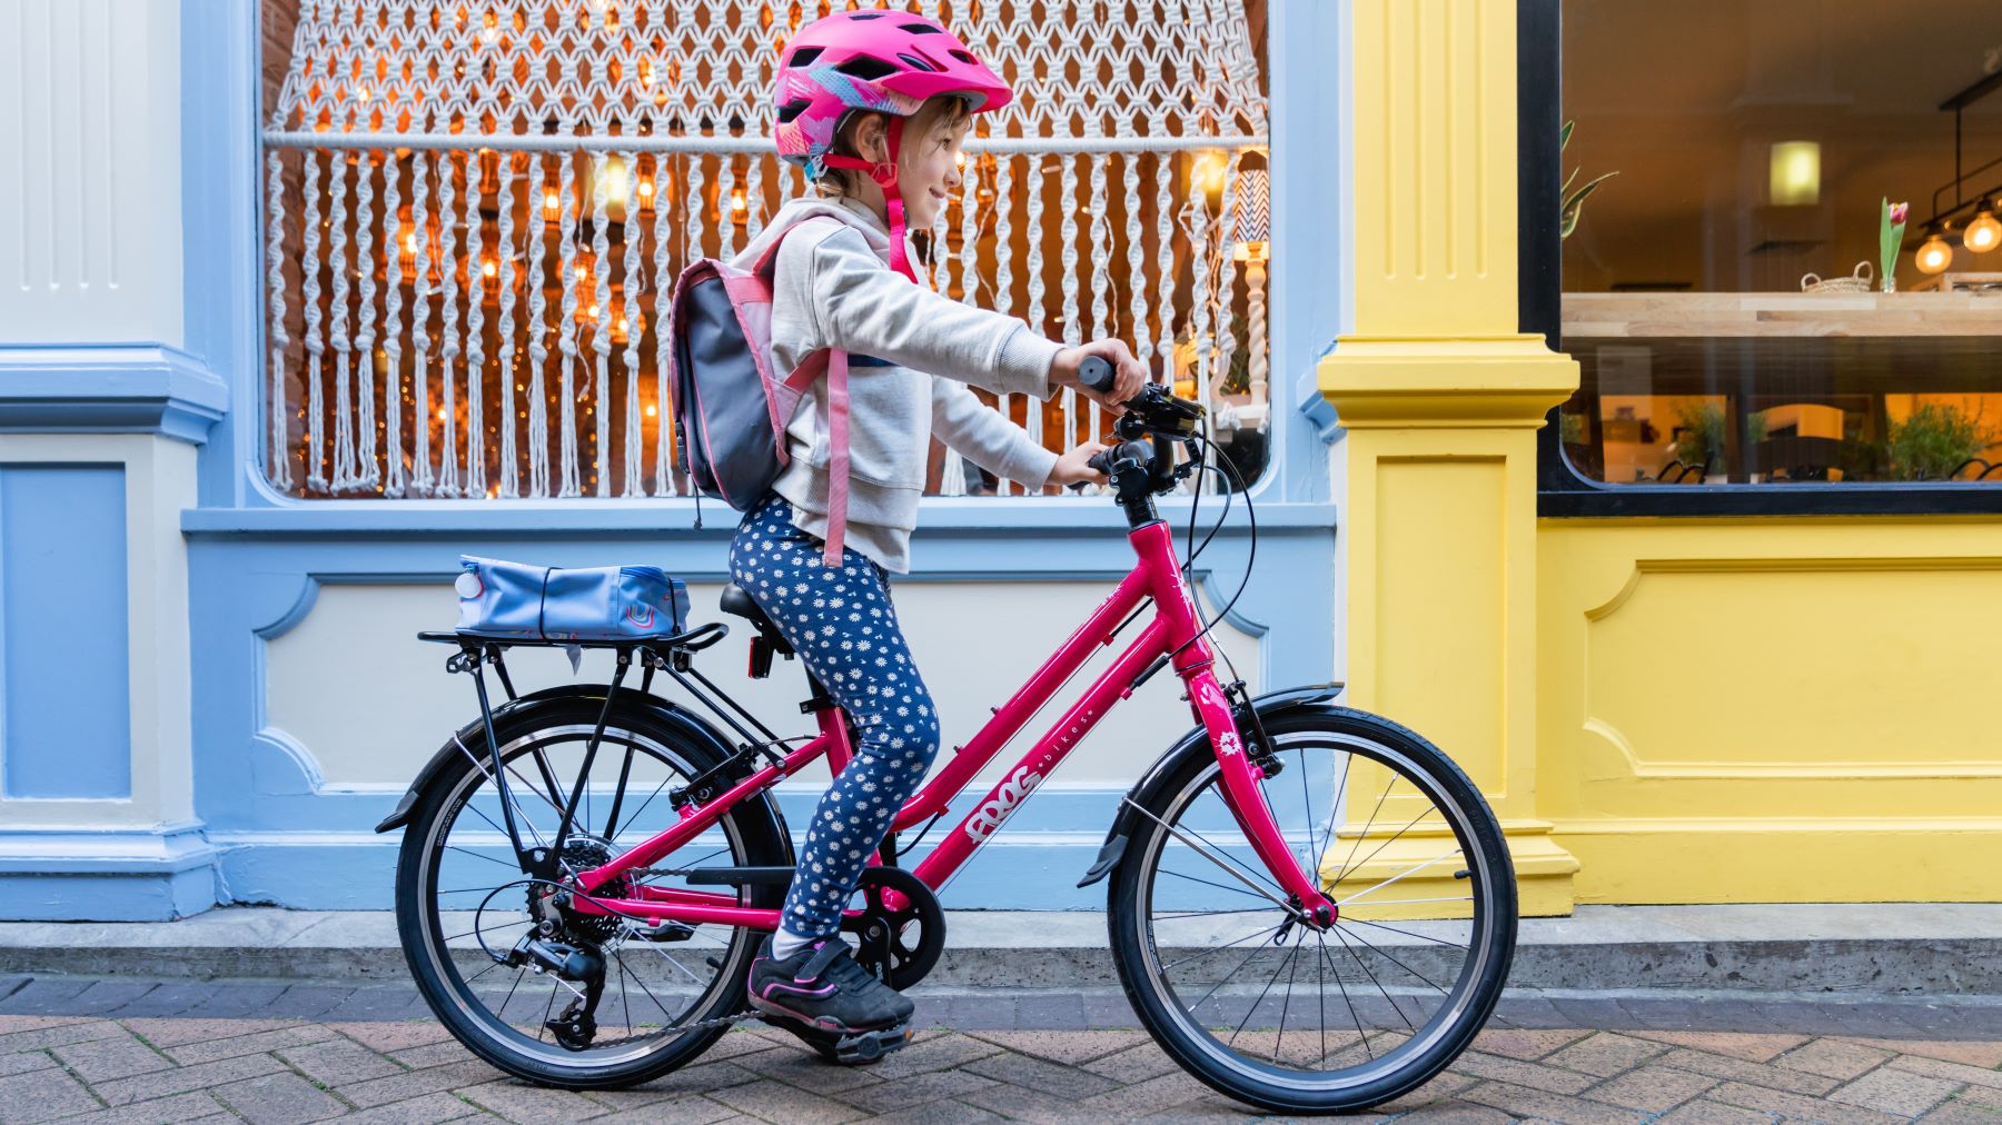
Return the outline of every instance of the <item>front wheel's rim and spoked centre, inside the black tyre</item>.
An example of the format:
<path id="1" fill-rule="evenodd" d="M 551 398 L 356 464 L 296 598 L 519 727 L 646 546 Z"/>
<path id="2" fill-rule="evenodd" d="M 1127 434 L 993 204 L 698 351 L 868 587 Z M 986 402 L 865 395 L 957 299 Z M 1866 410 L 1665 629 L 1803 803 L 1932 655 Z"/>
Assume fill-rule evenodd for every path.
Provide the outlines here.
<path id="1" fill-rule="evenodd" d="M 1153 995 L 1185 1043 L 1239 1079 L 1339 1093 L 1443 1065 L 1437 1047 L 1463 1045 L 1469 1013 L 1485 1011 L 1497 955 L 1499 873 L 1473 845 L 1477 813 L 1393 745 L 1337 731 L 1271 741 L 1281 769 L 1261 789 L 1293 859 L 1333 881 L 1321 887 L 1339 919 L 1325 933 L 1285 925 L 1289 911 L 1259 895 L 1285 899 L 1211 763 L 1161 813 L 1189 843 L 1159 829 L 1141 857 L 1133 917 Z"/>

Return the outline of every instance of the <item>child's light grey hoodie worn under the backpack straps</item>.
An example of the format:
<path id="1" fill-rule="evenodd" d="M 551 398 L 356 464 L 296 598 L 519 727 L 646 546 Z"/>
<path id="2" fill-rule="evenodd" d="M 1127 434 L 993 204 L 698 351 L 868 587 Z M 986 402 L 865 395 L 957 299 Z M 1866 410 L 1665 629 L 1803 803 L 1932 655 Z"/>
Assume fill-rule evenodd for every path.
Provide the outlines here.
<path id="1" fill-rule="evenodd" d="M 793 220 L 841 208 L 847 220 L 807 220 L 785 236 L 773 272 L 771 342 L 779 372 L 821 348 L 873 356 L 849 364 L 847 544 L 889 571 L 909 573 L 911 530 L 925 490 L 931 438 L 995 476 L 1041 488 L 1057 454 L 981 402 L 965 384 L 1049 398 L 1049 366 L 1063 344 L 1013 316 L 911 284 L 889 268 L 889 232 L 855 200 L 801 198 L 733 260 L 751 264 Z M 791 462 L 773 488 L 793 522 L 827 538 L 827 380 L 815 380 L 787 426 Z"/>

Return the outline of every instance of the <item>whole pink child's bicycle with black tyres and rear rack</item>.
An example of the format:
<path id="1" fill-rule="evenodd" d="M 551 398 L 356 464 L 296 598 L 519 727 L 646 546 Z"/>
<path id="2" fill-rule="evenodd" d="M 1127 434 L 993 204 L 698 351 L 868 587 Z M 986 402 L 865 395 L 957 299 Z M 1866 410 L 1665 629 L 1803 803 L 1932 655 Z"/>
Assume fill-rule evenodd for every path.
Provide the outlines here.
<path id="1" fill-rule="evenodd" d="M 1419 735 L 1335 705 L 1339 685 L 1251 699 L 1217 677 L 1187 562 L 1153 504 L 1201 468 L 1175 458 L 1201 446 L 1199 420 L 1201 406 L 1159 386 L 1119 418 L 1121 444 L 1099 466 L 1131 524 L 1133 573 L 941 759 L 845 929 L 873 973 L 919 983 L 945 949 L 935 893 L 1115 703 L 1171 669 L 1195 727 L 1125 795 L 1079 883 L 1107 881 L 1125 993 L 1161 1049 L 1229 1097 L 1281 1113 L 1377 1105 L 1437 1075 L 1493 1011 L 1516 943 L 1514 871 L 1473 783 Z M 723 611 L 755 631 L 751 675 L 791 657 L 749 595 L 727 589 Z M 955 809 L 1085 661 L 1135 625 L 1015 769 Z M 396 919 L 416 987 L 494 1067 L 569 1089 L 625 1087 L 753 1019 L 745 975 L 793 877 L 771 787 L 821 757 L 839 771 L 853 743 L 811 675 L 801 711 L 813 735 L 781 739 L 731 701 L 693 663 L 725 633 L 713 623 L 607 645 L 609 685 L 533 695 L 515 693 L 509 643 L 420 635 L 458 647 L 446 667 L 472 675 L 480 717 L 378 831 L 404 829 Z M 498 707 L 488 667 L 507 691 Z M 657 673 L 707 717 L 655 695 Z M 957 825 L 905 869 L 949 817 Z"/>

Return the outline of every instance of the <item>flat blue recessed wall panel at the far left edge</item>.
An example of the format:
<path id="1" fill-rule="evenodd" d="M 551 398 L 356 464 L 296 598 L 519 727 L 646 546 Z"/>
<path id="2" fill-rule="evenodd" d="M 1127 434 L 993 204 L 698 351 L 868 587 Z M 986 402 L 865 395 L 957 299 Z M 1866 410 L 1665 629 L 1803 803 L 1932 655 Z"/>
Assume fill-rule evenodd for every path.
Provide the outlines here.
<path id="1" fill-rule="evenodd" d="M 0 793 L 130 797 L 120 464 L 0 464 Z"/>

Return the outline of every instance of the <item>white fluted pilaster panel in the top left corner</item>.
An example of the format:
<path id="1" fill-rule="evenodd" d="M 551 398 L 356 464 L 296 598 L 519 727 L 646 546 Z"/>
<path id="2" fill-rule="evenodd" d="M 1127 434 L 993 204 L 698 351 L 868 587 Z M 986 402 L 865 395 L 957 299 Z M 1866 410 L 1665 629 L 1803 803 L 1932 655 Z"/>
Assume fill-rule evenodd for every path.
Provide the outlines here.
<path id="1" fill-rule="evenodd" d="M 182 344 L 180 6 L 0 0 L 0 344 Z"/>

